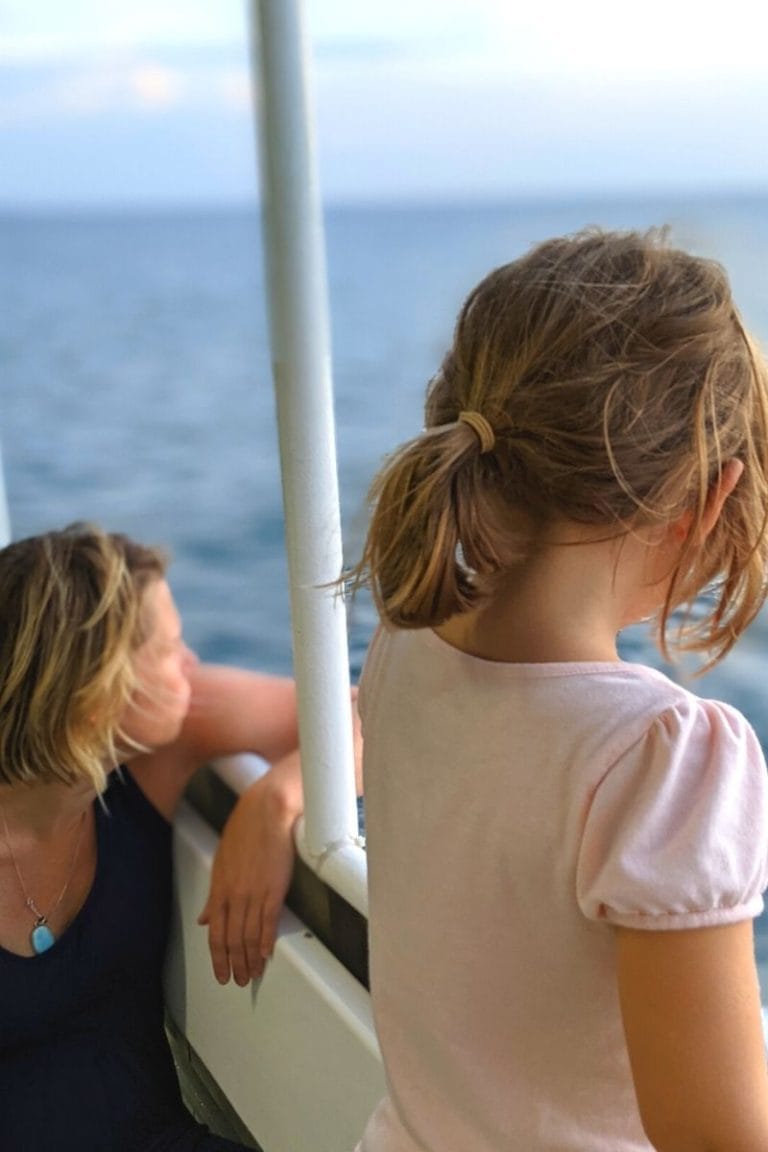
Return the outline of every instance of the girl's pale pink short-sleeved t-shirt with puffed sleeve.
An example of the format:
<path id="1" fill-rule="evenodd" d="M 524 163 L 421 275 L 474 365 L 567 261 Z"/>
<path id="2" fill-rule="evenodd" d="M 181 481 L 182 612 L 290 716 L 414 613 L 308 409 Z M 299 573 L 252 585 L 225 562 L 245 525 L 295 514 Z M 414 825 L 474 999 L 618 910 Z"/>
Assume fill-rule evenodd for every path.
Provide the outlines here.
<path id="1" fill-rule="evenodd" d="M 733 708 L 629 664 L 379 630 L 365 737 L 388 1096 L 360 1152 L 648 1152 L 611 925 L 756 916 L 768 787 Z"/>

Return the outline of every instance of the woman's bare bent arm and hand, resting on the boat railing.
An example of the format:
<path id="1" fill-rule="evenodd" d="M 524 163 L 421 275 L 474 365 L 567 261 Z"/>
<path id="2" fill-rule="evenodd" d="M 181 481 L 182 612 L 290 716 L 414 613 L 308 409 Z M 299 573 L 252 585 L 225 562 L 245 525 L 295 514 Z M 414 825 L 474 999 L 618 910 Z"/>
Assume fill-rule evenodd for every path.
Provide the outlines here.
<path id="1" fill-rule="evenodd" d="M 269 771 L 243 793 L 227 820 L 199 923 L 208 927 L 216 979 L 259 977 L 274 948 L 294 866 L 292 829 L 303 810 L 296 689 L 292 680 L 196 664 L 192 702 L 178 738 L 131 761 L 147 798 L 172 819 L 193 773 L 208 760 L 256 752 Z M 357 695 L 352 690 L 352 700 Z M 353 707 L 355 759 L 362 745 Z"/>

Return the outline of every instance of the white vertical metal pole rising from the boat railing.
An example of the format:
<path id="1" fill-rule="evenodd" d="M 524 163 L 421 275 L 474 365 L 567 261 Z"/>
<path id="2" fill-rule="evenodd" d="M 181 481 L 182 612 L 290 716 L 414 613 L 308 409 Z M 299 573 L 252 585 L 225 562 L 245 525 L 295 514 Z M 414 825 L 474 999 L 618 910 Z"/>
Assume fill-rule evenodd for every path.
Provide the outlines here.
<path id="1" fill-rule="evenodd" d="M 261 211 L 310 857 L 357 836 L 330 336 L 301 0 L 252 0 Z"/>

